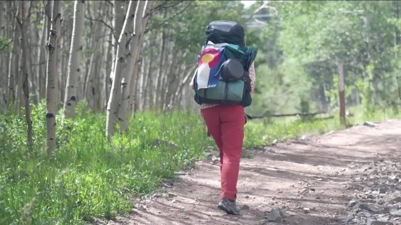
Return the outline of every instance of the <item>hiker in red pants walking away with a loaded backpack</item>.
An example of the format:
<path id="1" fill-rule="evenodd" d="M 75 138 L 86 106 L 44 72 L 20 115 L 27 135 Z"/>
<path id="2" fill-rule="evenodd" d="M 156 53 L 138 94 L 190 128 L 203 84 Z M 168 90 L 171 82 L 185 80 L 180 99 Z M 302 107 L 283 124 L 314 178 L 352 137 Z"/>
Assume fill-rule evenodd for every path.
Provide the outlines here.
<path id="1" fill-rule="evenodd" d="M 206 127 L 220 151 L 221 195 L 218 208 L 238 215 L 237 181 L 246 117 L 255 88 L 253 61 L 257 48 L 245 45 L 245 32 L 237 22 L 208 24 L 206 42 L 190 85 L 201 106 Z"/>

